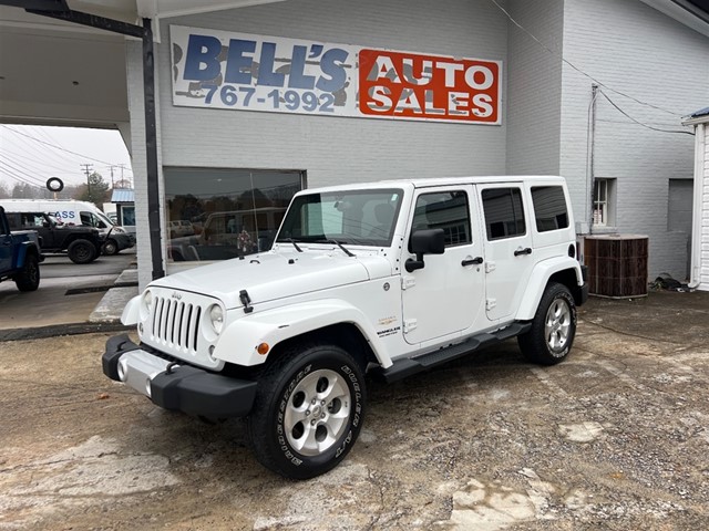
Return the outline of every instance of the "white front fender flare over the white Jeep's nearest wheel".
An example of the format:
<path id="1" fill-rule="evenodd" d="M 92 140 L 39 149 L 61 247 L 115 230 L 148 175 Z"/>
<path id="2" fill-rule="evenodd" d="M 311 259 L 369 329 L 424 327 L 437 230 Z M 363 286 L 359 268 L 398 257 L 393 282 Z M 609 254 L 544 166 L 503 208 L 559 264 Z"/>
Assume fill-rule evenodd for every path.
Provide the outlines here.
<path id="1" fill-rule="evenodd" d="M 382 367 L 392 365 L 367 316 L 356 306 L 338 299 L 256 311 L 237 319 L 222 333 L 213 356 L 243 366 L 259 365 L 268 357 L 258 354 L 256 348 L 259 344 L 267 343 L 269 352 L 273 352 L 276 345 L 286 340 L 340 323 L 353 324 L 360 331 Z"/>

